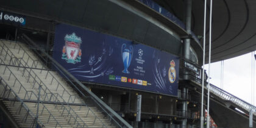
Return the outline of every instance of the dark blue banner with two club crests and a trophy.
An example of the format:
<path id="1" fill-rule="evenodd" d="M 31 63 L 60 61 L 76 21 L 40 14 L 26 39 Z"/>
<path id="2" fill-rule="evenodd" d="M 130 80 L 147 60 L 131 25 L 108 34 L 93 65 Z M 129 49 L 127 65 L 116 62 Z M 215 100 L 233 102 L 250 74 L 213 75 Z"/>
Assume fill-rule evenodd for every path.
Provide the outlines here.
<path id="1" fill-rule="evenodd" d="M 77 79 L 177 96 L 179 57 L 79 27 L 55 27 L 53 57 Z"/>

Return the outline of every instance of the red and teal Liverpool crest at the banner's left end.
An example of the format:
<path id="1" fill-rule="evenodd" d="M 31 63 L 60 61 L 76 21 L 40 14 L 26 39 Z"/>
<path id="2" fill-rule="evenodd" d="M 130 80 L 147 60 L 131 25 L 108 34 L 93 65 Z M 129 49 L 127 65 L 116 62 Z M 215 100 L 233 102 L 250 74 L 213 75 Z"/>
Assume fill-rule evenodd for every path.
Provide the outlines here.
<path id="1" fill-rule="evenodd" d="M 63 46 L 62 50 L 62 59 L 66 60 L 67 63 L 77 63 L 81 62 L 82 51 L 80 49 L 80 44 L 82 44 L 82 40 L 80 37 L 77 37 L 76 34 L 68 35 L 66 34 L 65 38 L 65 46 Z"/>

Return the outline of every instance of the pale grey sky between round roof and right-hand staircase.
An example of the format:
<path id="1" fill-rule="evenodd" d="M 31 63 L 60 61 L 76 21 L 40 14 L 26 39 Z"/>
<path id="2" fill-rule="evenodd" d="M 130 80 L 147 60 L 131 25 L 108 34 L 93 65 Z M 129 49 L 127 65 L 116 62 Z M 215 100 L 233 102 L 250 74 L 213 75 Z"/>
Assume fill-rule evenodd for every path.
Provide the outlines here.
<path id="1" fill-rule="evenodd" d="M 254 59 L 254 58 L 253 58 Z M 254 67 L 256 62 L 254 59 Z M 211 63 L 210 83 L 221 88 L 221 62 Z M 208 65 L 205 65 L 208 73 Z M 256 73 L 256 69 L 254 69 Z M 233 59 L 224 60 L 223 89 L 251 104 L 256 103 L 256 88 L 252 96 L 252 53 L 244 54 Z M 254 75 L 256 82 L 256 74 Z M 254 82 L 254 83 L 255 83 Z M 252 101 L 254 99 L 254 102 Z"/>

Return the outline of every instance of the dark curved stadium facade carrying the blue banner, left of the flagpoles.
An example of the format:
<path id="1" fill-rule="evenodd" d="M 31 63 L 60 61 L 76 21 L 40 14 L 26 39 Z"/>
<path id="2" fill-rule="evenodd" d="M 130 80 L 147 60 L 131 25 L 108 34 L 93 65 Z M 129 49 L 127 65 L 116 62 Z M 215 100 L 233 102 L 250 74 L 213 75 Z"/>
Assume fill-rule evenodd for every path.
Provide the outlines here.
<path id="1" fill-rule="evenodd" d="M 88 96 L 96 94 L 130 126 L 199 127 L 201 83 L 208 78 L 202 78 L 201 69 L 203 24 L 197 27 L 203 21 L 195 27 L 193 10 L 195 4 L 202 9 L 204 2 L 0 2 L 2 39 L 37 43 L 39 48 L 31 49 L 39 51 L 50 69 L 62 71 L 48 63 L 52 60 L 40 50 L 84 84 L 75 82 L 73 88 Z M 197 11 L 201 11 L 196 16 L 201 15 L 202 20 L 204 10 Z M 218 59 L 213 57 L 213 61 Z M 212 97 L 210 104 L 218 110 L 223 106 L 216 104 L 216 99 Z M 212 112 L 217 126 L 226 127 L 213 109 L 210 115 Z M 246 120 L 247 116 L 241 118 Z M 6 114 L 0 119 L 2 126 L 12 127 Z"/>

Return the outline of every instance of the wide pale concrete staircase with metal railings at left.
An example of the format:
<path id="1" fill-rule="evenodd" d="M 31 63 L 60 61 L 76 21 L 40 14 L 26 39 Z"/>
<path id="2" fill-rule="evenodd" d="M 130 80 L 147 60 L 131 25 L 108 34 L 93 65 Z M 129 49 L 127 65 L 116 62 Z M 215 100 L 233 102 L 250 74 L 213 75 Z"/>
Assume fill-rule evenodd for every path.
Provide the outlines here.
<path id="1" fill-rule="evenodd" d="M 49 63 L 47 54 L 55 71 L 48 68 L 44 52 L 33 49 L 40 48 L 0 40 L 0 98 L 20 127 L 131 127 L 85 86 L 82 93 L 81 83 Z"/>

